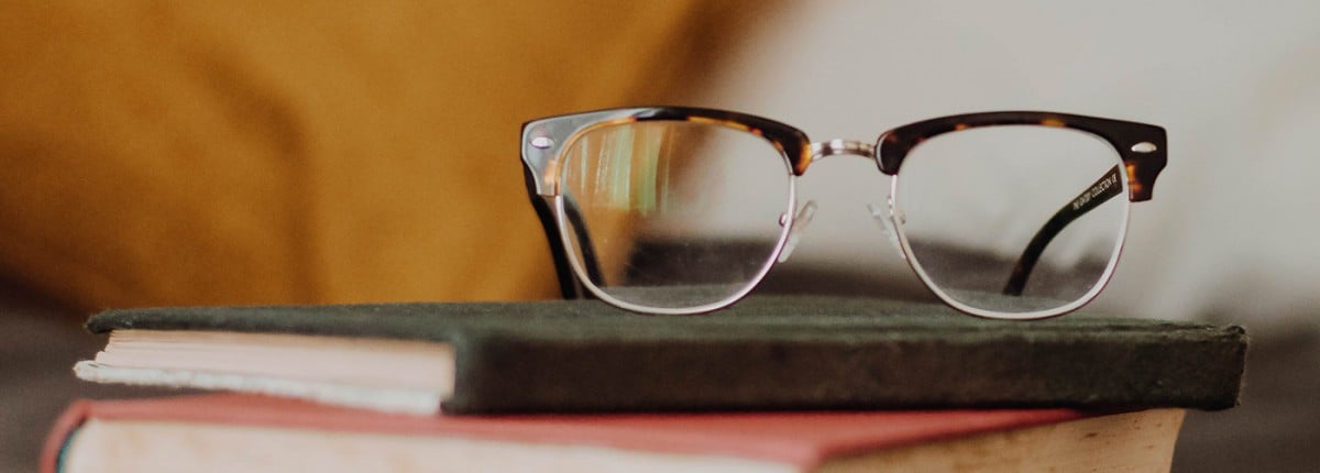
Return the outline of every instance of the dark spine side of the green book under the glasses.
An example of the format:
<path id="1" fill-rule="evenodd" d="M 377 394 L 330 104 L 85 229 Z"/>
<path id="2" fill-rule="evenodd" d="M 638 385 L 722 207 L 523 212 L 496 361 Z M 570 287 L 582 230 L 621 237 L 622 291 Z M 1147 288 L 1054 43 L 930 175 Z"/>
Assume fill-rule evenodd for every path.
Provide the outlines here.
<path id="1" fill-rule="evenodd" d="M 1069 367 L 1077 366 L 1074 361 L 1048 359 L 1048 353 L 1032 351 L 1061 349 L 1044 345 L 1016 354 L 987 354 L 985 350 L 994 349 L 994 344 L 937 340 L 610 344 L 492 337 L 455 346 L 454 394 L 441 410 L 445 414 L 950 407 L 1213 411 L 1238 403 L 1246 354 L 1242 333 L 1175 341 L 1098 337 L 1084 344 L 1056 342 L 1076 350 L 1078 357 L 1092 357 L 1082 365 L 1104 366 L 1104 373 L 1069 374 Z M 913 351 L 925 353 L 916 359 L 927 365 L 887 362 L 915 359 Z M 1023 367 L 1022 373 L 1035 375 L 1014 378 L 1019 358 L 1043 365 Z M 982 362 L 953 366 L 944 359 Z M 1217 367 L 1196 374 L 1179 369 L 1187 366 Z M 946 388 L 965 386 L 958 375 L 982 384 Z M 997 382 L 995 375 L 1016 381 Z M 1077 383 L 1078 377 L 1090 381 Z M 590 387 L 590 392 L 583 392 L 583 387 Z"/>

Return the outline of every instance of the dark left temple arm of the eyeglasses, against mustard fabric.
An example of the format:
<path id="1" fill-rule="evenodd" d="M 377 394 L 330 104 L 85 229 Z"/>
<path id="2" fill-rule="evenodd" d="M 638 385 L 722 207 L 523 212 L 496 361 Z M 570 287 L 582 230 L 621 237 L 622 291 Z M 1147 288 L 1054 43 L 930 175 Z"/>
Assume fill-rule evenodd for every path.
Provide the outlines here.
<path id="1" fill-rule="evenodd" d="M 550 200 L 536 192 L 536 182 L 533 181 L 536 177 L 532 174 L 531 169 L 523 168 L 523 178 L 527 184 L 527 193 L 532 200 L 532 209 L 536 209 L 536 217 L 540 218 L 541 229 L 545 230 L 545 240 L 550 246 L 550 256 L 554 259 L 554 276 L 560 281 L 560 293 L 564 299 L 591 299 L 591 293 L 587 292 L 573 275 L 573 267 L 570 266 L 569 256 L 564 250 L 564 239 L 560 238 L 554 210 L 550 209 Z M 577 234 L 578 246 L 582 248 L 586 271 L 590 277 L 599 280 L 599 264 L 595 259 L 591 238 L 586 234 L 582 213 L 578 210 L 576 201 L 568 196 L 564 196 L 564 209 L 568 213 L 569 222 L 573 223 L 572 226 L 573 231 Z"/>

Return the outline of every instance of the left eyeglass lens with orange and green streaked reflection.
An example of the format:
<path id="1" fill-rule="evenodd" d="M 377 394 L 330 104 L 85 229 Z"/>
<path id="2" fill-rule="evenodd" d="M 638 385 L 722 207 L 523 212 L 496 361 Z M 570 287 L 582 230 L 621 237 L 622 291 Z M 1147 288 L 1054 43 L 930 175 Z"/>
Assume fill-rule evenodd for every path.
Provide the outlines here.
<path id="1" fill-rule="evenodd" d="M 788 161 L 758 135 L 713 123 L 610 124 L 579 135 L 562 157 L 570 258 L 619 301 L 686 309 L 735 297 L 785 233 Z M 730 174 L 760 188 L 730 188 Z"/>

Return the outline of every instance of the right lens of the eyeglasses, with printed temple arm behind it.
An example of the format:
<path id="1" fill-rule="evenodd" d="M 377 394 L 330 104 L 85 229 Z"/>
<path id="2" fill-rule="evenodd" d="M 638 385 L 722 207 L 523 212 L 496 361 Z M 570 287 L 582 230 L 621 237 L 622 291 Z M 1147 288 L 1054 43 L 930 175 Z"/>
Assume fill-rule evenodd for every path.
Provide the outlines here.
<path id="1" fill-rule="evenodd" d="M 1076 308 L 1100 291 L 1118 258 L 1129 205 L 1122 169 L 1106 141 L 1067 128 L 932 137 L 904 159 L 895 181 L 904 248 L 936 292 L 974 313 Z M 1051 230 L 1053 238 L 1036 236 Z M 1035 256 L 1034 239 L 1043 251 L 1022 264 Z"/>

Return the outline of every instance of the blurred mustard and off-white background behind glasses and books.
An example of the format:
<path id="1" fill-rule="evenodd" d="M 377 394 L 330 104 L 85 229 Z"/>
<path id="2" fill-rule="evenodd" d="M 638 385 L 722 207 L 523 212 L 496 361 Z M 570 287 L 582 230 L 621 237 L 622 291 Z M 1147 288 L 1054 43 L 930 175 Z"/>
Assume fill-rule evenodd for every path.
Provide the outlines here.
<path id="1" fill-rule="evenodd" d="M 0 4 L 0 470 L 36 470 L 91 312 L 556 296 L 521 122 L 673 103 L 874 140 L 968 111 L 1164 126 L 1096 305 L 1245 325 L 1243 406 L 1175 470 L 1320 464 L 1320 3 Z M 822 161 L 764 291 L 925 297 Z"/>

